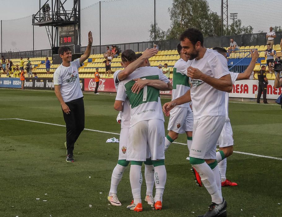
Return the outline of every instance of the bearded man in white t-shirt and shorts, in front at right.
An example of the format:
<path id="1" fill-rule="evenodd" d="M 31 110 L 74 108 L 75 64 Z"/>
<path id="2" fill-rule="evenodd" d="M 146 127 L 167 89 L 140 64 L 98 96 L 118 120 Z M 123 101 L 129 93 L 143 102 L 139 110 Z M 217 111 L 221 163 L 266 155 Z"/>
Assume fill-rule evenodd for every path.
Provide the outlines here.
<path id="1" fill-rule="evenodd" d="M 203 34 L 194 28 L 180 35 L 183 53 L 187 55 L 187 76 L 191 89 L 178 99 L 164 104 L 163 111 L 193 101 L 194 126 L 190 163 L 199 172 L 202 183 L 212 197 L 205 215 L 227 216 L 227 202 L 221 194 L 221 179 L 216 162 L 216 144 L 225 122 L 225 92 L 232 91 L 227 61 L 217 51 L 203 46 Z M 182 98 L 182 97 L 180 97 Z"/>

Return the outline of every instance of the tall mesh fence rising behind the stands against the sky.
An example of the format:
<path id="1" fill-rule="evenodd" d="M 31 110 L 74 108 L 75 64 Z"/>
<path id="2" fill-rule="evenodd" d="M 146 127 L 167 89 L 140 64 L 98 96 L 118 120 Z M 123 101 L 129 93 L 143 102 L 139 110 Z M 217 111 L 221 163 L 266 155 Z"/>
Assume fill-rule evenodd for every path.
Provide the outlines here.
<path id="1" fill-rule="evenodd" d="M 276 31 L 282 31 L 280 5 L 280 0 L 101 1 L 81 9 L 81 45 L 87 44 L 87 33 L 91 30 L 93 46 L 132 42 L 143 42 L 144 46 L 148 46 L 151 44 L 146 44 L 148 41 L 177 39 L 172 33 L 178 28 L 175 26 L 178 23 L 183 25 L 182 28 L 196 26 L 205 29 L 209 25 L 205 22 L 210 16 L 214 16 L 213 19 L 217 22 L 214 29 L 221 28 L 221 16 L 223 17 L 223 35 L 265 33 L 270 26 Z M 202 19 L 199 19 L 201 16 Z M 193 17 L 198 20 L 193 21 Z M 2 53 L 51 49 L 45 27 L 33 27 L 31 24 L 32 16 L 2 20 Z M 209 32 L 212 32 L 209 36 L 213 37 L 222 34 L 221 31 L 215 30 Z M 209 44 L 212 40 L 207 39 Z M 218 41 L 217 39 L 217 44 Z M 124 46 L 127 47 L 130 46 Z M 133 44 L 131 48 L 140 50 L 139 45 Z M 103 48 L 99 47 L 97 52 L 102 50 Z"/>

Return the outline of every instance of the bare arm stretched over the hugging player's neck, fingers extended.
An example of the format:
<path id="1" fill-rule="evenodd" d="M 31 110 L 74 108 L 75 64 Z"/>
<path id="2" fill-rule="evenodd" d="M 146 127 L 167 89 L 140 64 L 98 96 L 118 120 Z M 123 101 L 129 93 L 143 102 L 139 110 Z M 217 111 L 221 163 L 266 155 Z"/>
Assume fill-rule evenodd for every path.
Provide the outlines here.
<path id="1" fill-rule="evenodd" d="M 158 52 L 158 49 L 156 48 L 151 48 L 151 49 L 146 49 L 142 56 L 140 56 L 137 60 L 134 62 L 130 63 L 125 69 L 120 71 L 117 75 L 117 78 L 119 81 L 124 80 L 129 76 L 131 73 L 133 73 L 142 63 L 144 60 L 147 60 L 151 58 L 153 55 L 156 55 Z"/>

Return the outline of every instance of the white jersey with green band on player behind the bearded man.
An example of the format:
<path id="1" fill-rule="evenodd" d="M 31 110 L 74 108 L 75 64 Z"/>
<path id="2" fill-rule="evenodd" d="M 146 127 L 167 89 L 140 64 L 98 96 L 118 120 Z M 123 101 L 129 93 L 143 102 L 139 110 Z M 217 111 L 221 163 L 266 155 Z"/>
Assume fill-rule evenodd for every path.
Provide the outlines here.
<path id="1" fill-rule="evenodd" d="M 187 62 L 183 59 L 176 61 L 173 68 L 172 100 L 183 96 L 189 89 L 189 77 L 187 76 Z M 190 103 L 178 105 L 178 107 L 188 108 Z"/>

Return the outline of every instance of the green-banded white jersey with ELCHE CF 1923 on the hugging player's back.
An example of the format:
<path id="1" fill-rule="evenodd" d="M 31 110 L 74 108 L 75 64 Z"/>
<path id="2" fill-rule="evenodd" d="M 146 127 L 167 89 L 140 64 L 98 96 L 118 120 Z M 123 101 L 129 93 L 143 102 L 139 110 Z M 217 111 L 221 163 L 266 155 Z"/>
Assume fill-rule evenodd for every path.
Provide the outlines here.
<path id="1" fill-rule="evenodd" d="M 165 121 L 161 108 L 160 91 L 154 87 L 145 86 L 139 94 L 133 93 L 131 88 L 135 83 L 133 79 L 136 78 L 169 82 L 169 79 L 157 67 L 145 66 L 136 69 L 119 83 L 116 100 L 125 101 L 126 98 L 129 100 L 130 127 L 145 120 L 161 119 Z"/>

